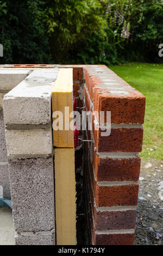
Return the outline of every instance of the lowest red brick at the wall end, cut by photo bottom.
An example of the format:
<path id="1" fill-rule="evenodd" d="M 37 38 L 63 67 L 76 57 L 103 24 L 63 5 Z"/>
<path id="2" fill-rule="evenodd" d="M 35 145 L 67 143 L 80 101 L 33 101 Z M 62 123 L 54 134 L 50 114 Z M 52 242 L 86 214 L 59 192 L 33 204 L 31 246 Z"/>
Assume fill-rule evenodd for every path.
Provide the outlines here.
<path id="1" fill-rule="evenodd" d="M 94 245 L 133 245 L 134 234 L 103 234 L 93 235 Z"/>

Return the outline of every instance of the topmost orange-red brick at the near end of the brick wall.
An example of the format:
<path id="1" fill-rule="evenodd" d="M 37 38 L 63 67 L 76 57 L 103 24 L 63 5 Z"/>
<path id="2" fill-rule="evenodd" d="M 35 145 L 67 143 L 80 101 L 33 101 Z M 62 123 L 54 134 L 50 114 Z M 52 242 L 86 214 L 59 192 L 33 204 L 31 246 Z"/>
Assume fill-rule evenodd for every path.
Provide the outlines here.
<path id="1" fill-rule="evenodd" d="M 95 111 L 111 111 L 111 123 L 144 123 L 146 98 L 133 89 L 129 96 L 111 95 L 108 90 L 95 90 Z"/>

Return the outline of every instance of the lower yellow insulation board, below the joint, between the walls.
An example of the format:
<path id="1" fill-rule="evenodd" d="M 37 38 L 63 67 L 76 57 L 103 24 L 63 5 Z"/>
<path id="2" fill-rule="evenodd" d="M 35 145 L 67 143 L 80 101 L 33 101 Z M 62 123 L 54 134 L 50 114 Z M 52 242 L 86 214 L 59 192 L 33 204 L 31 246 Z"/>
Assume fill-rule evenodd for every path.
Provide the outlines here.
<path id="1" fill-rule="evenodd" d="M 57 245 L 76 245 L 76 179 L 74 149 L 55 149 Z"/>

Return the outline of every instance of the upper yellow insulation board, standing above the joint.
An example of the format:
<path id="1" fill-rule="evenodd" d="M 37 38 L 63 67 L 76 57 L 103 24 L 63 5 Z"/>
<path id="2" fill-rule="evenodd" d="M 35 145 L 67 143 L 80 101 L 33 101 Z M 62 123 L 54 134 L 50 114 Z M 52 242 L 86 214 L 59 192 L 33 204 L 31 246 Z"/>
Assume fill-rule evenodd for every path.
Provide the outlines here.
<path id="1" fill-rule="evenodd" d="M 67 108 L 67 110 L 65 109 Z M 54 146 L 59 148 L 74 147 L 74 131 L 70 129 L 70 113 L 73 111 L 73 74 L 72 69 L 61 69 L 57 80 L 52 88 L 52 109 L 53 109 L 53 138 Z M 62 130 L 57 130 L 58 115 L 54 115 L 60 111 L 63 120 Z M 62 119 L 63 117 L 63 119 Z M 55 124 L 57 121 L 57 125 Z"/>

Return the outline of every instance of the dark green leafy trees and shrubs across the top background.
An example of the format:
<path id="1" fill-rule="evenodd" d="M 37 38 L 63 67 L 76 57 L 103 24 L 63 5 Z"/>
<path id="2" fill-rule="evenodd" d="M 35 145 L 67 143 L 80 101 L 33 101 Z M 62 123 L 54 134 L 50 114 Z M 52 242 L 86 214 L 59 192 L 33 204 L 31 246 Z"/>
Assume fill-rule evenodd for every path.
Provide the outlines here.
<path id="1" fill-rule="evenodd" d="M 161 61 L 162 7 L 162 0 L 1 0 L 0 61 Z"/>

